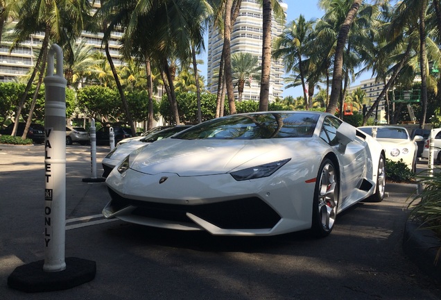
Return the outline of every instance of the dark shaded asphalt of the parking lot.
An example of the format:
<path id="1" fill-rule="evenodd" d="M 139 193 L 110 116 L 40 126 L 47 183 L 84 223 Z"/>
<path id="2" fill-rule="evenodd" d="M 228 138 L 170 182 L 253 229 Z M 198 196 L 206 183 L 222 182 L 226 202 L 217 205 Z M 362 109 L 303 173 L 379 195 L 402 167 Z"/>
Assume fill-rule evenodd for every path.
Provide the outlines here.
<path id="1" fill-rule="evenodd" d="M 98 174 L 107 151 L 98 147 Z M 43 145 L 0 144 L 2 300 L 441 299 L 401 247 L 415 185 L 386 185 L 383 202 L 338 215 L 328 238 L 214 237 L 103 219 L 105 183 L 83 183 L 89 147 L 76 144 L 67 147 L 66 256 L 94 260 L 96 277 L 58 292 L 13 290 L 14 269 L 44 259 L 44 174 Z"/>

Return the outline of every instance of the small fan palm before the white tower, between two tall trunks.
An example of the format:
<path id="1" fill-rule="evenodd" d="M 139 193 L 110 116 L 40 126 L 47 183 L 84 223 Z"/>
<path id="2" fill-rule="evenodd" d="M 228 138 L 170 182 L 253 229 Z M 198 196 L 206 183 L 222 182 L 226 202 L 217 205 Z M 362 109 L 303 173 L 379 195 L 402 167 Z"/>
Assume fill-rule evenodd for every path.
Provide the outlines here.
<path id="1" fill-rule="evenodd" d="M 259 59 L 251 53 L 234 53 L 232 55 L 232 76 L 234 86 L 237 86 L 238 100 L 242 101 L 245 84 L 251 86 L 252 79 L 260 79 Z"/>

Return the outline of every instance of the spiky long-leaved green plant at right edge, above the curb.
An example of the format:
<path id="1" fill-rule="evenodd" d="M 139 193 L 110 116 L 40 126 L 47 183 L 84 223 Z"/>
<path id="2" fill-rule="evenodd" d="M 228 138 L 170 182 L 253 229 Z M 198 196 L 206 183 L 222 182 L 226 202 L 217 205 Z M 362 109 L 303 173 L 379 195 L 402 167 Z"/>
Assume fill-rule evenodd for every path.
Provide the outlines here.
<path id="1" fill-rule="evenodd" d="M 441 237 L 441 170 L 433 176 L 417 176 L 423 190 L 409 203 L 410 219 L 422 222 L 420 228 L 431 229 Z"/>

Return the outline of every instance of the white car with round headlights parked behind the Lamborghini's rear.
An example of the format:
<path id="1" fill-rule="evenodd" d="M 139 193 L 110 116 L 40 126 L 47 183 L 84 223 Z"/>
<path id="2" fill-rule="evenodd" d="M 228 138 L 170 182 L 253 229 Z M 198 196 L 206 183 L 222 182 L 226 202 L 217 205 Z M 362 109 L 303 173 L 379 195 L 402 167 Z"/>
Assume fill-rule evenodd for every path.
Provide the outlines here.
<path id="1" fill-rule="evenodd" d="M 386 158 L 398 162 L 403 160 L 407 167 L 415 172 L 417 169 L 417 142 L 424 140 L 421 135 L 411 139 L 406 128 L 401 126 L 362 126 L 361 131 L 373 136 L 386 149 Z"/>

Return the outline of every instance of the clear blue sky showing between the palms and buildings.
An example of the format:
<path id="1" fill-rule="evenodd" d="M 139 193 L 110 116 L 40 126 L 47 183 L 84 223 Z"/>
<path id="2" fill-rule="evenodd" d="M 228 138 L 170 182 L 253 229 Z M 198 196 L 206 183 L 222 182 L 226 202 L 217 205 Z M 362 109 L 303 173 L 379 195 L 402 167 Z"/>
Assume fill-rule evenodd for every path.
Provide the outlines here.
<path id="1" fill-rule="evenodd" d="M 284 0 L 288 4 L 288 10 L 286 11 L 286 22 L 291 22 L 293 19 L 297 19 L 300 15 L 304 15 L 306 20 L 322 17 L 325 12 L 318 7 L 318 1 L 316 0 Z M 207 48 L 206 48 L 207 49 Z M 204 53 L 201 57 L 205 64 L 207 63 L 207 53 Z M 200 66 L 202 75 L 207 78 L 207 65 Z M 362 75 L 353 83 L 353 85 L 359 84 L 360 80 L 370 78 L 368 74 Z M 286 96 L 299 97 L 303 96 L 302 88 L 290 88 L 284 89 L 283 97 Z"/>

